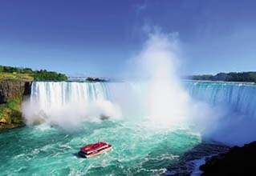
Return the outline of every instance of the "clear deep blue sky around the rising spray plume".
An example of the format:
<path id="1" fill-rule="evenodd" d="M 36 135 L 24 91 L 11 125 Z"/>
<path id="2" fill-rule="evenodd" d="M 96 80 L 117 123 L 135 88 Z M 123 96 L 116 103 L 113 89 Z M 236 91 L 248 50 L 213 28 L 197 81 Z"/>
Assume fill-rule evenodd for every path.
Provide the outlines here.
<path id="1" fill-rule="evenodd" d="M 256 2 L 2 0 L 0 64 L 118 77 L 144 26 L 177 32 L 184 74 L 256 70 Z"/>

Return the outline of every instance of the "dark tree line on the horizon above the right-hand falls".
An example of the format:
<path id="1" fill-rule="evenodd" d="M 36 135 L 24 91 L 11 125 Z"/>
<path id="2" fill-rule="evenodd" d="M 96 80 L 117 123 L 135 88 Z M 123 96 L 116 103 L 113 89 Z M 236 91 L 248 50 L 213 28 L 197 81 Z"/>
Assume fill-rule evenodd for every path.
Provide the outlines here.
<path id="1" fill-rule="evenodd" d="M 256 82 L 256 72 L 230 72 L 219 74 L 202 74 L 189 76 L 193 80 L 223 81 L 223 82 Z"/>

